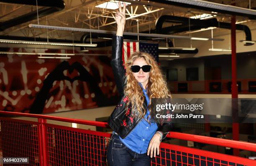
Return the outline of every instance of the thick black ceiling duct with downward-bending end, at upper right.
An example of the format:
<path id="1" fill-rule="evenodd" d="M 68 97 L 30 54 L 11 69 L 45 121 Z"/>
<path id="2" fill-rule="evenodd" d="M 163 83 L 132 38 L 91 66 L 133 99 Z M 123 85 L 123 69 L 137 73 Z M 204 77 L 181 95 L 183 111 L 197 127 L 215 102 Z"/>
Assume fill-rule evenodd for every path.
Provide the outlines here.
<path id="1" fill-rule="evenodd" d="M 181 23 L 182 25 L 175 25 L 169 27 L 163 27 L 165 22 L 168 23 Z M 190 26 L 190 27 L 189 27 Z M 156 33 L 162 34 L 172 34 L 172 33 L 180 33 L 190 30 L 198 30 L 201 28 L 208 27 L 217 27 L 217 28 L 225 28 L 231 29 L 230 23 L 218 22 L 216 18 L 211 18 L 208 20 L 200 20 L 200 19 L 192 19 L 186 17 L 178 17 L 172 15 L 162 15 L 156 21 Z M 251 38 L 251 30 L 246 25 L 236 25 L 237 30 L 243 30 L 246 34 L 246 40 L 252 40 Z M 253 43 L 246 43 L 245 45 L 253 45 Z"/>

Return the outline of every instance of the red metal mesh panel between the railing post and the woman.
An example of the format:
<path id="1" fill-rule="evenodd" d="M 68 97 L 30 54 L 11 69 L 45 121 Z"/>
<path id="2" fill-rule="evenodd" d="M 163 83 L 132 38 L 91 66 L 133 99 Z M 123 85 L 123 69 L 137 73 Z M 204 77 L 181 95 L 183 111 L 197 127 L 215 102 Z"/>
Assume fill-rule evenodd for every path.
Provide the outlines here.
<path id="1" fill-rule="evenodd" d="M 49 165 L 105 166 L 110 138 L 100 136 L 100 133 L 77 128 L 48 127 Z"/>

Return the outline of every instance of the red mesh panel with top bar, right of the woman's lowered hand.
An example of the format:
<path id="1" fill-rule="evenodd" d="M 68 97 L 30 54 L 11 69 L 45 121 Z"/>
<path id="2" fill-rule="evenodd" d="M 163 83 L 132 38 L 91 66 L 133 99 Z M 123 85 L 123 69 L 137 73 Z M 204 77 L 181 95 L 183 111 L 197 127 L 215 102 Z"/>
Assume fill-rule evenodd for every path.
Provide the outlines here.
<path id="1" fill-rule="evenodd" d="M 151 166 L 256 166 L 256 161 L 195 148 L 161 143 Z M 174 150 L 175 149 L 175 150 Z"/>

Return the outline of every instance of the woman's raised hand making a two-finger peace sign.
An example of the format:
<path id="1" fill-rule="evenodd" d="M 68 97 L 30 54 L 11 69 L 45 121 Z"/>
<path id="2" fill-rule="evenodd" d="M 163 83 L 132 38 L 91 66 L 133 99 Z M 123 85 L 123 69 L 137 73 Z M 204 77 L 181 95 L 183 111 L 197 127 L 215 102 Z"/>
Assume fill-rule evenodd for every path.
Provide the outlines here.
<path id="1" fill-rule="evenodd" d="M 123 36 L 123 30 L 125 27 L 125 3 L 123 3 L 123 9 L 121 7 L 121 3 L 118 2 L 119 5 L 119 10 L 116 11 L 115 13 L 115 21 L 117 24 L 117 31 L 116 35 L 117 36 Z"/>

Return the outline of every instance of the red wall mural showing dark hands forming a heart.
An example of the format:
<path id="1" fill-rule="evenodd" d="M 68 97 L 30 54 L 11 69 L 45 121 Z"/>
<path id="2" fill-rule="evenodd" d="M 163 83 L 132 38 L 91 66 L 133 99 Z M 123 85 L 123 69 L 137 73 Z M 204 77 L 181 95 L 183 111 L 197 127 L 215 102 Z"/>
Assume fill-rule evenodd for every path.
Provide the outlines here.
<path id="1" fill-rule="evenodd" d="M 1 48 L 1 51 L 35 50 Z M 44 49 L 44 52 L 73 53 L 73 50 Z M 97 54 L 75 55 L 68 60 L 1 55 L 0 110 L 53 113 L 115 105 L 118 92 L 110 60 L 110 56 Z"/>

